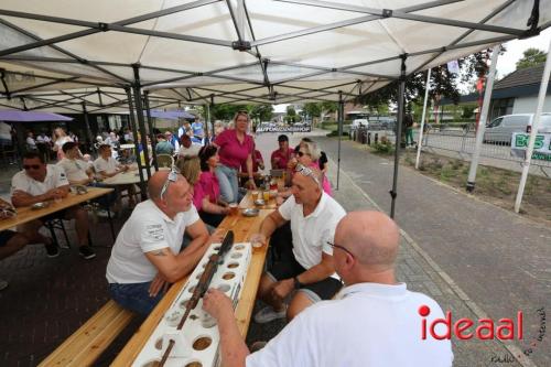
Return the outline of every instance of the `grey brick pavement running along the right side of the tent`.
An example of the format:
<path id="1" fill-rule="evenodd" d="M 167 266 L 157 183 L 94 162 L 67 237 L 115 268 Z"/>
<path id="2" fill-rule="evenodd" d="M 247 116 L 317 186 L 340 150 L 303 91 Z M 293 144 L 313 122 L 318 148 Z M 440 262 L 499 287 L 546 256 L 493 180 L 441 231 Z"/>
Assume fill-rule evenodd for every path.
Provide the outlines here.
<path id="1" fill-rule="evenodd" d="M 337 141 L 317 140 L 336 160 Z M 342 177 L 353 179 L 361 192 L 389 213 L 392 161 L 360 152 L 355 145 L 353 142 L 342 144 L 341 162 L 345 172 Z M 533 363 L 551 365 L 549 335 L 542 343 L 533 342 L 541 326 L 537 310 L 551 309 L 551 228 L 483 203 L 407 168 L 401 168 L 399 173 L 396 218 L 409 235 L 406 238 L 411 238 L 411 244 L 419 244 L 413 246 L 419 249 L 415 252 L 430 256 L 429 265 L 437 265 L 435 269 L 444 272 L 443 279 L 458 287 L 451 289 L 460 299 L 465 299 L 464 304 L 477 317 L 485 314 L 493 320 L 512 317 L 522 310 L 525 339 L 515 345 L 522 350 L 531 346 Z M 431 272 L 425 267 L 421 269 Z M 446 293 L 443 298 L 437 292 L 430 294 L 444 309 L 446 302 L 455 302 Z M 462 312 L 456 314 L 465 316 Z M 466 348 L 465 355 L 458 354 L 464 346 L 464 342 L 455 343 L 457 363 L 462 363 L 463 357 L 477 365 L 490 359 L 491 354 L 487 353 L 479 359 L 471 359 L 471 348 Z"/>

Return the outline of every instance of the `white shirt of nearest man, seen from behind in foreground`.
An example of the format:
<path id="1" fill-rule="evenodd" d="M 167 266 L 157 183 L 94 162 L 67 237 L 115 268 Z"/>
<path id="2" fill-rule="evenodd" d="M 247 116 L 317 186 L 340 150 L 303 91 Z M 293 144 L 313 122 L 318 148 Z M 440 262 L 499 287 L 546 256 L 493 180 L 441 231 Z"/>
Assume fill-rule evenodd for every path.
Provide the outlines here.
<path id="1" fill-rule="evenodd" d="M 428 325 L 444 317 L 433 299 L 404 283 L 358 283 L 338 294 L 301 312 L 247 367 L 452 366 L 450 341 L 421 339 L 421 305 L 431 309 Z"/>

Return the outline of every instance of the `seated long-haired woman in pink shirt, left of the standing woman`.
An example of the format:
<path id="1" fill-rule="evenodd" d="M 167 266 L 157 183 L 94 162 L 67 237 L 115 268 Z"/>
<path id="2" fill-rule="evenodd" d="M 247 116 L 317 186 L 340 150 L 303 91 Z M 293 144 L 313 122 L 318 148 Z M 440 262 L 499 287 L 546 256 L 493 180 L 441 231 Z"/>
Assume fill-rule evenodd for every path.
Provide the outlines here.
<path id="1" fill-rule="evenodd" d="M 218 179 L 215 169 L 218 165 L 218 150 L 214 145 L 205 145 L 199 151 L 201 175 L 194 186 L 193 204 L 199 213 L 199 217 L 206 224 L 218 227 L 229 207 L 222 202 Z"/>

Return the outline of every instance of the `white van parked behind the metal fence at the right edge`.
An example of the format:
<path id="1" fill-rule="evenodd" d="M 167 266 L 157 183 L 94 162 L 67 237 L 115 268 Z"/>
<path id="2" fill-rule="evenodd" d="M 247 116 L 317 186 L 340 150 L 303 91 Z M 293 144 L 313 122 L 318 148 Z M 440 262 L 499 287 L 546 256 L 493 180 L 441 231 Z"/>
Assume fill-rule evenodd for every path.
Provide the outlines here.
<path id="1" fill-rule="evenodd" d="M 486 126 L 484 142 L 509 144 L 514 132 L 529 132 L 533 114 L 500 116 Z M 541 114 L 538 132 L 551 132 L 551 112 Z"/>

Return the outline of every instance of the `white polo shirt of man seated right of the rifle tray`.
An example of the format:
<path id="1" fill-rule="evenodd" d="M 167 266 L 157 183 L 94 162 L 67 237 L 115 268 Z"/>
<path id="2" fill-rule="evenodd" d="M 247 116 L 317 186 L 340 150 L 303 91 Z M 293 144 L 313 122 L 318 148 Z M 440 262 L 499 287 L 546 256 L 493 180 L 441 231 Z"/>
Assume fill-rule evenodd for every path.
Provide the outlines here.
<path id="1" fill-rule="evenodd" d="M 323 192 L 315 211 L 304 217 L 302 204 L 296 204 L 294 195 L 291 195 L 279 207 L 279 213 L 283 219 L 291 222 L 293 253 L 304 269 L 322 262 L 322 251 L 333 255 L 333 248 L 327 241 L 335 240 L 337 224 L 346 215 L 345 209 L 333 197 Z"/>

